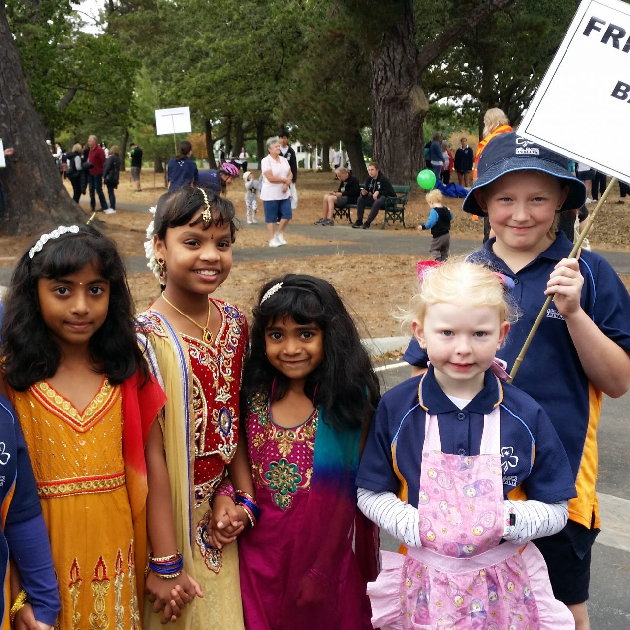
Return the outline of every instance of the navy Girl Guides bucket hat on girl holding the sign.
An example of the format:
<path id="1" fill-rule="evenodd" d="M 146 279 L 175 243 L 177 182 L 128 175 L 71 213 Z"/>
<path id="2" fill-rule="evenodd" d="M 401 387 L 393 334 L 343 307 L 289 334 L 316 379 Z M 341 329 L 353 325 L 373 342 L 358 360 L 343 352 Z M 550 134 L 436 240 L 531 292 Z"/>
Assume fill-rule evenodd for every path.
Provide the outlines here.
<path id="1" fill-rule="evenodd" d="M 477 179 L 462 203 L 462 210 L 469 214 L 486 214 L 477 202 L 474 191 L 513 171 L 542 171 L 557 177 L 563 186 L 569 186 L 569 194 L 558 212 L 576 210 L 586 202 L 587 188 L 569 173 L 566 157 L 532 140 L 525 140 L 512 131 L 495 136 L 484 147 L 477 166 Z"/>

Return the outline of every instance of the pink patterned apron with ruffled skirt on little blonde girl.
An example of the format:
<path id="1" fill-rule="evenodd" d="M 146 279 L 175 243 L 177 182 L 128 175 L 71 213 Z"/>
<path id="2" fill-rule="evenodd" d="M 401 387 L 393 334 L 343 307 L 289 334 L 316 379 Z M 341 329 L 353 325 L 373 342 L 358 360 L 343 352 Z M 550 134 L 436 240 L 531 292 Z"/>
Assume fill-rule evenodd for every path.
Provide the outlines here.
<path id="1" fill-rule="evenodd" d="M 574 628 L 553 599 L 533 544 L 503 536 L 499 408 L 484 416 L 479 455 L 441 450 L 437 416 L 426 415 L 420 469 L 419 549 L 383 552 L 368 585 L 372 625 L 385 629 L 558 630 Z"/>

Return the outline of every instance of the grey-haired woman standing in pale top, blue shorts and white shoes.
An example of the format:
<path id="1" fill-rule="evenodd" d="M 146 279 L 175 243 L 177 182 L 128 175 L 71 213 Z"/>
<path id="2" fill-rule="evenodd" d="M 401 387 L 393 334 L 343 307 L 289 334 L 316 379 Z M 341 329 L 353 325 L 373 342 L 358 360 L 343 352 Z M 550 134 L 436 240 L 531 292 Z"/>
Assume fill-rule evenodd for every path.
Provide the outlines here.
<path id="1" fill-rule="evenodd" d="M 267 139 L 266 156 L 261 165 L 263 171 L 263 186 L 260 199 L 265 209 L 265 223 L 269 231 L 269 246 L 286 245 L 284 231 L 292 218 L 289 186 L 293 181 L 289 160 L 280 155 L 280 139 L 277 135 Z M 278 231 L 275 231 L 276 221 L 280 218 Z"/>

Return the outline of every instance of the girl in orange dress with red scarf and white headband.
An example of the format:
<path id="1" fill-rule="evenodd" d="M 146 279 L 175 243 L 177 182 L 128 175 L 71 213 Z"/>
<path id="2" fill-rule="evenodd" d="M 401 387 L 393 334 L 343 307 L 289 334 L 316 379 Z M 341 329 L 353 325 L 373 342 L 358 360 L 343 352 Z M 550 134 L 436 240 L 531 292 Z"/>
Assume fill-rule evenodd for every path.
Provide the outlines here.
<path id="1" fill-rule="evenodd" d="M 59 227 L 21 257 L 5 304 L 4 377 L 33 463 L 62 630 L 139 629 L 146 588 L 175 619 L 196 589 L 177 554 L 159 423 L 115 245 Z M 169 579 L 161 579 L 169 578 Z"/>

